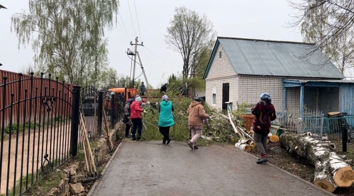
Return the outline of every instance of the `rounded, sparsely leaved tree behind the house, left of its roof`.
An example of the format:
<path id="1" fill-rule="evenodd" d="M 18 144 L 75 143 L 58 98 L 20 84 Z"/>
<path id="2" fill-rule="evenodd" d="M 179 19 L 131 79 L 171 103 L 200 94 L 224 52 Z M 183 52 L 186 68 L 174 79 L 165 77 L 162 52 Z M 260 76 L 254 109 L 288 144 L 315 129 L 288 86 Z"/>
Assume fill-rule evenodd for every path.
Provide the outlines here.
<path id="1" fill-rule="evenodd" d="M 215 36 L 212 22 L 206 15 L 184 6 L 175 9 L 174 18 L 167 28 L 166 44 L 183 58 L 183 78 L 195 72 L 198 56 L 201 56 L 210 40 Z M 193 63 L 194 59 L 194 63 Z"/>

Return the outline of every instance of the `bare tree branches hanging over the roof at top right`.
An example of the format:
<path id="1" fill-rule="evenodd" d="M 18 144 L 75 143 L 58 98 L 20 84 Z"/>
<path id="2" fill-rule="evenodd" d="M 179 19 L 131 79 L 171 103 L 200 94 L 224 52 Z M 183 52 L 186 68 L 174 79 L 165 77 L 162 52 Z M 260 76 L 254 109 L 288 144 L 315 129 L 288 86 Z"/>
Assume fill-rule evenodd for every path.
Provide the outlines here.
<path id="1" fill-rule="evenodd" d="M 299 26 L 304 41 L 318 47 L 344 73 L 354 66 L 354 0 L 294 0 L 299 12 L 293 26 Z"/>

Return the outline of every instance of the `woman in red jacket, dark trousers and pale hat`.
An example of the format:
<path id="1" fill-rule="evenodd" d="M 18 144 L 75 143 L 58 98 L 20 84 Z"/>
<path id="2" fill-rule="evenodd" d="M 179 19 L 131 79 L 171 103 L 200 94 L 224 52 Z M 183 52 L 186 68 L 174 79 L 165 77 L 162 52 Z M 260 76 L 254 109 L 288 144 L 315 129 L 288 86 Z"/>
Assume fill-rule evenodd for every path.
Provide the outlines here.
<path id="1" fill-rule="evenodd" d="M 143 120 L 141 112 L 145 112 L 144 109 L 140 107 L 142 104 L 141 97 L 136 97 L 135 101 L 130 105 L 130 119 L 133 123 L 132 127 L 132 140 L 140 140 L 142 129 L 143 129 Z M 138 128 L 138 137 L 135 137 L 136 130 Z"/>

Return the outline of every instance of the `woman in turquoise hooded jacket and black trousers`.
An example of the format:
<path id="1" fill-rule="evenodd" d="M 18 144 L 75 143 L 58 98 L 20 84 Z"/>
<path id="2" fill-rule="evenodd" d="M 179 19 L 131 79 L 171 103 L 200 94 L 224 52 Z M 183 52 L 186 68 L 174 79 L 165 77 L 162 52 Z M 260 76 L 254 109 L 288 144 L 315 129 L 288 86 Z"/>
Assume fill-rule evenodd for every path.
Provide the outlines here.
<path id="1" fill-rule="evenodd" d="M 159 106 L 159 129 L 160 133 L 164 136 L 162 140 L 163 144 L 169 144 L 170 139 L 170 127 L 175 124 L 173 120 L 172 112 L 174 111 L 172 102 L 168 99 L 167 95 L 162 96 L 162 101 Z M 167 141 L 167 142 L 166 142 Z"/>

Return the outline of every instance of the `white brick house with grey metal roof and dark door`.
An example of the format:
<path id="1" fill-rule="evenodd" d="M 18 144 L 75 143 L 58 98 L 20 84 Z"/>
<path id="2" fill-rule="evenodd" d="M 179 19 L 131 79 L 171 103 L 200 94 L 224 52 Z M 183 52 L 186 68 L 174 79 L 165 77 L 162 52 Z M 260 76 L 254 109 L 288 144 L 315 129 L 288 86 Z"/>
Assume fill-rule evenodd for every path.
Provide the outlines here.
<path id="1" fill-rule="evenodd" d="M 301 104 L 319 109 L 319 97 L 333 89 L 286 88 L 283 81 L 344 78 L 319 51 L 304 59 L 304 54 L 314 47 L 308 43 L 218 37 L 204 74 L 206 102 L 223 109 L 226 101 L 233 102 L 234 106 L 253 105 L 261 93 L 268 92 L 277 111 L 298 110 L 302 89 Z M 331 110 L 338 108 L 338 104 L 332 105 L 335 107 Z"/>

